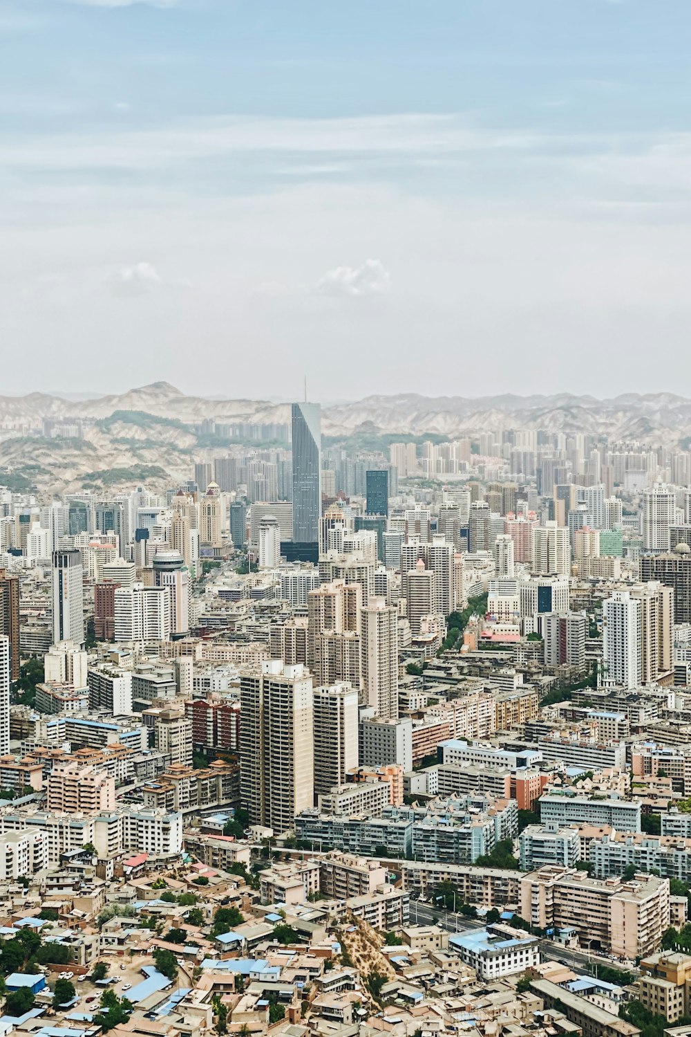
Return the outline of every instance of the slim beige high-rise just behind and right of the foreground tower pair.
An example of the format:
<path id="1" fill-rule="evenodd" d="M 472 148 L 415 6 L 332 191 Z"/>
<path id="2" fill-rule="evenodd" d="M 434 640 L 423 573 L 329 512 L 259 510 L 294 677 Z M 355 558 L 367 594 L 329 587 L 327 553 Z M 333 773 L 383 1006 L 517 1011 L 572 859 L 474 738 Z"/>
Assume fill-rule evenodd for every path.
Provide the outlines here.
<path id="1" fill-rule="evenodd" d="M 398 717 L 398 610 L 372 597 L 361 610 L 363 702 L 378 717 Z"/>

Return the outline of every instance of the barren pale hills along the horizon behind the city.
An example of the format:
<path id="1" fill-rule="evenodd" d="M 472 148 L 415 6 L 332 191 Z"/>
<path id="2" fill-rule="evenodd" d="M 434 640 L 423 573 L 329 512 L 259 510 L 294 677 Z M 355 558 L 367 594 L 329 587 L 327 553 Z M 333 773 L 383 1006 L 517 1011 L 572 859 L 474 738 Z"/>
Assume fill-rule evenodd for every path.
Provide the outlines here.
<path id="1" fill-rule="evenodd" d="M 167 382 L 118 395 L 29 393 L 0 396 L 0 482 L 17 489 L 60 494 L 117 491 L 146 481 L 170 485 L 191 477 L 195 460 L 218 455 L 188 427 L 204 419 L 287 424 L 290 404 L 270 400 L 186 395 Z M 65 398 L 69 396 L 70 398 Z M 22 435 L 44 419 L 82 419 L 83 439 Z M 373 395 L 322 409 L 322 432 L 335 438 L 426 435 L 457 438 L 497 428 L 589 432 L 610 442 L 675 446 L 691 435 L 691 399 L 675 393 L 626 393 L 608 399 L 550 396 L 429 397 Z"/>

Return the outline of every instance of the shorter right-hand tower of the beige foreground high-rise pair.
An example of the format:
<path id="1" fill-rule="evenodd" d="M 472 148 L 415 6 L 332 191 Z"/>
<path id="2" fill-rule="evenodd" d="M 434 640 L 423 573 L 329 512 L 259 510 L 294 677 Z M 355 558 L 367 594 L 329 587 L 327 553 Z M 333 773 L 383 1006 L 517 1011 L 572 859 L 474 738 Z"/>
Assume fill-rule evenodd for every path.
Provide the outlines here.
<path id="1" fill-rule="evenodd" d="M 344 785 L 357 766 L 357 690 L 333 684 L 314 690 L 314 790 Z"/>

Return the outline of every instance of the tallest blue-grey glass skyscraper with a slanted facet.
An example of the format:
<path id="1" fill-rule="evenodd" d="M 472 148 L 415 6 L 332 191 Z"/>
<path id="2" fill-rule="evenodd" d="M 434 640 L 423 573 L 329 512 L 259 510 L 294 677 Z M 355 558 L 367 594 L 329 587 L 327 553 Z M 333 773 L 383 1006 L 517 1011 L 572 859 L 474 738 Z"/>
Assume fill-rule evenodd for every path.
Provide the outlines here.
<path id="1" fill-rule="evenodd" d="M 321 514 L 321 408 L 318 403 L 293 403 L 292 441 L 293 542 L 317 545 Z"/>

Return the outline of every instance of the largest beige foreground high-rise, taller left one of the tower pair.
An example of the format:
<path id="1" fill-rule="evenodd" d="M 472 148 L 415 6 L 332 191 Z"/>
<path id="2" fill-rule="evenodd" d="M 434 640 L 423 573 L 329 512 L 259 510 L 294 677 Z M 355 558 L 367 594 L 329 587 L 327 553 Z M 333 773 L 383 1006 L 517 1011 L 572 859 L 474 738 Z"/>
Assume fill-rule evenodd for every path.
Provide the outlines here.
<path id="1" fill-rule="evenodd" d="M 252 824 L 292 828 L 314 805 L 314 692 L 301 666 L 240 674 L 240 794 Z"/>

